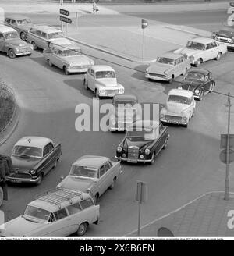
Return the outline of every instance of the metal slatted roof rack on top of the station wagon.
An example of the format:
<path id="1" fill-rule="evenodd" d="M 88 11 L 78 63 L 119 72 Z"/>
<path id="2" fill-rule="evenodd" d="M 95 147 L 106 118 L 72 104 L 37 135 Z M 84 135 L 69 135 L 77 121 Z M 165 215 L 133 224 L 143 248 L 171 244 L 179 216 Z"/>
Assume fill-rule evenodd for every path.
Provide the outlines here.
<path id="1" fill-rule="evenodd" d="M 50 204 L 58 205 L 58 208 L 61 208 L 62 202 L 69 200 L 69 203 L 73 204 L 72 199 L 74 197 L 81 196 L 82 192 L 56 187 L 54 189 L 48 190 L 42 194 L 37 195 L 36 199 L 46 201 Z"/>

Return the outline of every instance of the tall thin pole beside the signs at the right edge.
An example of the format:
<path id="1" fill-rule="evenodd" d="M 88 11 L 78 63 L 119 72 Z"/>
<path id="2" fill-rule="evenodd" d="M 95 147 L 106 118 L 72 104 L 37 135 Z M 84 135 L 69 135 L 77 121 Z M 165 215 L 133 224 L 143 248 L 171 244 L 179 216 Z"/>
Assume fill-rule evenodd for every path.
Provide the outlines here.
<path id="1" fill-rule="evenodd" d="M 226 155 L 226 173 L 225 173 L 225 200 L 229 200 L 229 151 L 230 151 L 230 112 L 231 112 L 231 101 L 230 93 L 228 96 L 228 137 L 227 137 L 227 155 Z"/>

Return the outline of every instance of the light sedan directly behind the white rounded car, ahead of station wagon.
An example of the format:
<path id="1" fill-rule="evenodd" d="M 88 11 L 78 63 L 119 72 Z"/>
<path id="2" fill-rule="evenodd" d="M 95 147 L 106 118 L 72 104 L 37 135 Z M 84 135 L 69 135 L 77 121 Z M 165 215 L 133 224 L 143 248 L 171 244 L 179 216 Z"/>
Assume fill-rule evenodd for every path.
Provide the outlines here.
<path id="1" fill-rule="evenodd" d="M 80 47 L 74 46 L 71 41 L 64 41 L 63 38 L 54 40 L 49 48 L 44 49 L 43 55 L 49 66 L 57 66 L 66 75 L 87 72 L 94 65 L 94 60 L 83 55 Z"/>

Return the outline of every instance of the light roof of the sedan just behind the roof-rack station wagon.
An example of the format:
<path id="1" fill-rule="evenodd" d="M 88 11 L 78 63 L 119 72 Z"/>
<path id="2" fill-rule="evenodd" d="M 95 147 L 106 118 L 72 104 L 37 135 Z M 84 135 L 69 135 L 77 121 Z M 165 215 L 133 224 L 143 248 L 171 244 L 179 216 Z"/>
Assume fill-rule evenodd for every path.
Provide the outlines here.
<path id="1" fill-rule="evenodd" d="M 90 167 L 99 168 L 108 160 L 109 158 L 105 156 L 83 155 L 81 158 L 77 159 L 76 162 L 73 162 L 73 165 L 78 165 L 78 166 L 87 165 Z"/>

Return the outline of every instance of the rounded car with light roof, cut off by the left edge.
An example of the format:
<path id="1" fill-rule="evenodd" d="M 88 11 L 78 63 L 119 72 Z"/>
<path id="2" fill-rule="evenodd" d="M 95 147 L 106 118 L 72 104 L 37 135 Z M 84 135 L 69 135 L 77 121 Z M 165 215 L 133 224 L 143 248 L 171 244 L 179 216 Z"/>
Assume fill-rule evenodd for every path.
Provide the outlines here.
<path id="1" fill-rule="evenodd" d="M 0 25 L 0 52 L 14 59 L 20 55 L 31 55 L 33 51 L 33 45 L 21 40 L 15 29 Z"/>

